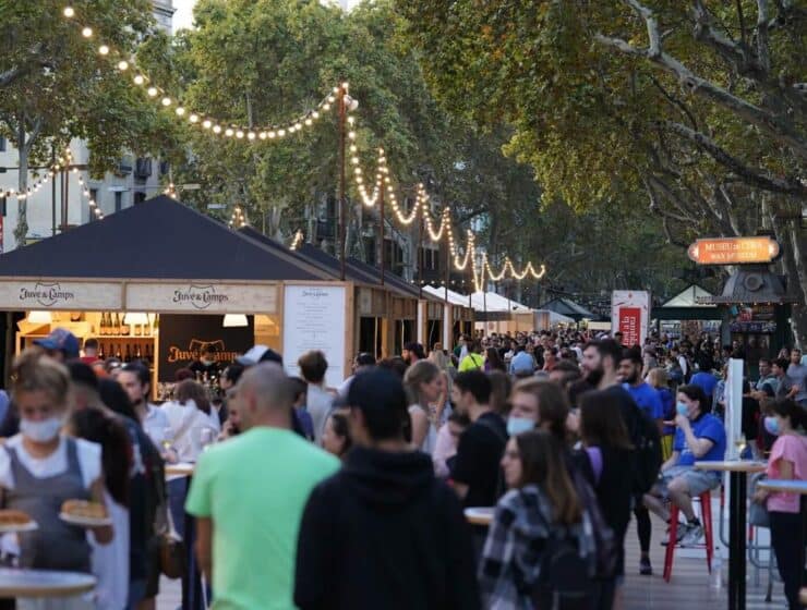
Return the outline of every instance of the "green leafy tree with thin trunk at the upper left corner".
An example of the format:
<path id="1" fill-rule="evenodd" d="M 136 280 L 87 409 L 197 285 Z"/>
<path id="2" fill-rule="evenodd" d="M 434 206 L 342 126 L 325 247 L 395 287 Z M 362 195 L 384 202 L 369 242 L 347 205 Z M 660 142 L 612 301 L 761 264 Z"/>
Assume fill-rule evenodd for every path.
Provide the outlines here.
<path id="1" fill-rule="evenodd" d="M 123 148 L 144 151 L 167 125 L 145 95 L 115 69 L 115 53 L 98 53 L 98 40 L 128 57 L 152 28 L 147 0 L 99 0 L 92 11 L 63 5 L 3 2 L 0 5 L 0 133 L 19 151 L 17 191 L 25 193 L 32 164 L 49 164 L 53 150 L 74 137 L 91 149 L 91 170 L 103 174 Z M 89 39 L 76 22 L 91 27 Z M 19 199 L 14 237 L 25 244 L 26 199 Z"/>

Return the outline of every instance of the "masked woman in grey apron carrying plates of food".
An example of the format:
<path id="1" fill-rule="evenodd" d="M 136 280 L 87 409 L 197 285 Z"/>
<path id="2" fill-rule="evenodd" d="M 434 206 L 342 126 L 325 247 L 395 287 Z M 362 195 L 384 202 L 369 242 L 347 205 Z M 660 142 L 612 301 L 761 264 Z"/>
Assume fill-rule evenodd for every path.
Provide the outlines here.
<path id="1" fill-rule="evenodd" d="M 63 431 L 70 415 L 68 370 L 38 350 L 26 350 L 14 361 L 12 392 L 20 413 L 20 434 L 0 447 L 1 508 L 26 513 L 38 527 L 17 535 L 20 565 L 39 570 L 91 572 L 87 533 L 107 545 L 109 525 L 85 528 L 59 516 L 67 500 L 104 504 L 106 489 L 101 448 Z M 26 599 L 17 608 L 95 608 L 84 597 L 49 600 L 46 606 Z"/>

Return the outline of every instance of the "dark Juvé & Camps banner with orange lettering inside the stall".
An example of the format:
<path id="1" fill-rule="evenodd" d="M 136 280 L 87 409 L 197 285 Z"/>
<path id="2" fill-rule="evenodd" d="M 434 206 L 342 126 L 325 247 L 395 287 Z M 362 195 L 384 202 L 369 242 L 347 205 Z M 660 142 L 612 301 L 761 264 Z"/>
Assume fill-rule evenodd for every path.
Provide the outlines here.
<path id="1" fill-rule="evenodd" d="M 255 342 L 254 318 L 248 326 L 224 327 L 224 316 L 161 314 L 159 317 L 159 379 L 174 381 L 180 368 L 197 361 L 205 347 L 216 347 L 221 368 L 246 352 Z"/>

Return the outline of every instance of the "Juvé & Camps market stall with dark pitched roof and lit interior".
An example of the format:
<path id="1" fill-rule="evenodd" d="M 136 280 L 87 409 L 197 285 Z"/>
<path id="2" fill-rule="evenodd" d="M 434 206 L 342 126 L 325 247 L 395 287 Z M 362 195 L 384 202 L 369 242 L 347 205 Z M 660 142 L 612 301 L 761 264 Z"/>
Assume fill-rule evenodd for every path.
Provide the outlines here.
<path id="1" fill-rule="evenodd" d="M 303 343 L 325 345 L 328 382 L 341 381 L 351 357 L 350 282 L 167 196 L 0 256 L 0 310 L 16 313 L 7 363 L 56 327 L 97 338 L 105 356 L 140 354 L 156 382 L 207 345 L 224 362 L 254 343 L 288 362 Z"/>

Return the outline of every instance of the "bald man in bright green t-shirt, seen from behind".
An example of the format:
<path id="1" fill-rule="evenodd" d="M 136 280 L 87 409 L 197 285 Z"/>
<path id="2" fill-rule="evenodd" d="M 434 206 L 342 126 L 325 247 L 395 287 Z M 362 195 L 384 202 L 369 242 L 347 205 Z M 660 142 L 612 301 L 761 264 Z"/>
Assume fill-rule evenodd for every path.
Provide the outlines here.
<path id="1" fill-rule="evenodd" d="M 214 609 L 291 610 L 303 508 L 339 461 L 291 430 L 292 390 L 278 365 L 246 370 L 233 394 L 245 432 L 202 454 L 185 503 L 196 553 Z"/>

